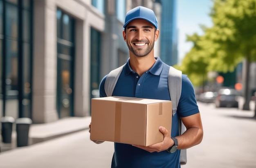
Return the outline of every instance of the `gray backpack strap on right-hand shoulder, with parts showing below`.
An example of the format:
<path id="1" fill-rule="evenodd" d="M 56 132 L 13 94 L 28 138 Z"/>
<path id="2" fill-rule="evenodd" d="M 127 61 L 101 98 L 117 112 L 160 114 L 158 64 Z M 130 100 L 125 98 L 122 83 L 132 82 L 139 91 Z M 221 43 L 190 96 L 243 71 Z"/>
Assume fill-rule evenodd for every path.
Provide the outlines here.
<path id="1" fill-rule="evenodd" d="M 182 72 L 170 67 L 168 74 L 168 88 L 171 96 L 171 101 L 173 104 L 173 116 L 177 112 L 178 103 L 180 101 L 181 89 L 182 89 Z M 186 131 L 185 125 L 182 123 L 181 119 L 179 122 L 179 134 L 183 134 Z M 185 165 L 186 159 L 186 149 L 180 150 L 180 165 Z"/>

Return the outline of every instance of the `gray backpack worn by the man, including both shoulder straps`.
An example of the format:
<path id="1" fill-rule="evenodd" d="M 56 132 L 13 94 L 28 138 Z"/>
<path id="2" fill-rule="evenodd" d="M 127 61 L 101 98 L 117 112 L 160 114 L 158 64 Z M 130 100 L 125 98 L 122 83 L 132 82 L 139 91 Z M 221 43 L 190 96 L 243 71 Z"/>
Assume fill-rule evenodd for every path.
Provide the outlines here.
<path id="1" fill-rule="evenodd" d="M 125 64 L 124 64 L 125 65 Z M 112 93 L 117 84 L 118 78 L 124 68 L 124 65 L 118 67 L 117 69 L 112 70 L 105 81 L 104 89 L 107 96 L 112 96 Z M 177 112 L 177 106 L 180 100 L 181 89 L 182 89 L 182 72 L 170 66 L 168 73 L 168 88 L 171 96 L 171 101 L 173 105 L 173 116 Z M 186 131 L 186 127 L 182 123 L 181 119 L 179 122 L 179 134 L 183 134 Z M 186 149 L 180 151 L 180 165 L 185 165 L 187 162 L 186 159 Z"/>

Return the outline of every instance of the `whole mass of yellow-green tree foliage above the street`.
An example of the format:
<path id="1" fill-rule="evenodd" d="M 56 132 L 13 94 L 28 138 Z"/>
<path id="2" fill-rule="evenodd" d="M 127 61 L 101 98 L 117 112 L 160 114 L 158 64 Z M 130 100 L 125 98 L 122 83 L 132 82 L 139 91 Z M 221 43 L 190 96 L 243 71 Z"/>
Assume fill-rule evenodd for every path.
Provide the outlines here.
<path id="1" fill-rule="evenodd" d="M 213 26 L 202 26 L 202 36 L 187 36 L 193 48 L 182 65 L 175 66 L 188 74 L 194 85 L 203 81 L 193 76 L 232 72 L 243 58 L 256 61 L 256 0 L 213 0 L 210 17 Z"/>

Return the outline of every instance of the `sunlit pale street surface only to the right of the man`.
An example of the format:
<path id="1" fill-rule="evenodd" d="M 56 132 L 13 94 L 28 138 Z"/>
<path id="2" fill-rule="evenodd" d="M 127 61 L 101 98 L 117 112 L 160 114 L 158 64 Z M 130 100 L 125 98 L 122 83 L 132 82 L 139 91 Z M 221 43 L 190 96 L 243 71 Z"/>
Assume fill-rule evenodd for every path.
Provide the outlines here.
<path id="1" fill-rule="evenodd" d="M 187 150 L 189 168 L 256 168 L 253 111 L 198 103 L 204 138 Z"/>

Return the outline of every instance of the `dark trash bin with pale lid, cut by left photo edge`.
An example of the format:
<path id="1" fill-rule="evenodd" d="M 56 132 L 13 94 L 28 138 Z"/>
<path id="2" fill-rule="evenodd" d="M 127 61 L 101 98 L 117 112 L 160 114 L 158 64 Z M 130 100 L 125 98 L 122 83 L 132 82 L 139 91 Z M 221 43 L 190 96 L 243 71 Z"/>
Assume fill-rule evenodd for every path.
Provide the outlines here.
<path id="1" fill-rule="evenodd" d="M 14 118 L 11 116 L 3 116 L 1 118 L 2 123 L 2 141 L 3 143 L 11 143 L 12 125 L 14 123 Z"/>

